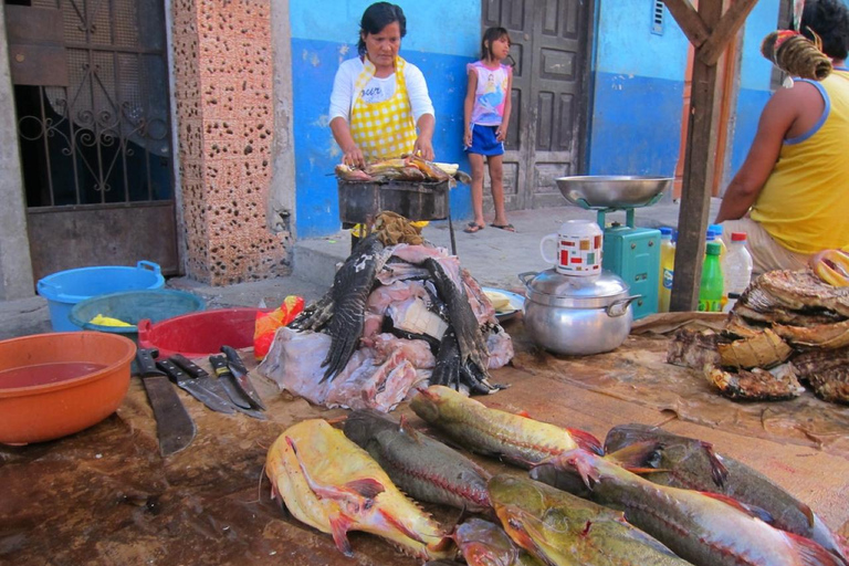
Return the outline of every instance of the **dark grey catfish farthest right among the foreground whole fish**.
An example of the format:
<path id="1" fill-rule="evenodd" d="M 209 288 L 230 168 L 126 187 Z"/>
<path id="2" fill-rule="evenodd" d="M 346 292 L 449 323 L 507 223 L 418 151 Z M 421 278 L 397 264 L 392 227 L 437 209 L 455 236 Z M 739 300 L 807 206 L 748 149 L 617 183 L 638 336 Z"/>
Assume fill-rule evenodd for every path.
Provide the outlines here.
<path id="1" fill-rule="evenodd" d="M 652 468 L 664 470 L 646 474 L 647 480 L 671 488 L 721 493 L 759 507 L 772 515 L 773 526 L 811 538 L 849 562 L 843 544 L 810 507 L 743 462 L 714 453 L 706 442 L 657 427 L 621 424 L 607 433 L 605 451 L 617 452 L 646 441 L 662 443 Z"/>

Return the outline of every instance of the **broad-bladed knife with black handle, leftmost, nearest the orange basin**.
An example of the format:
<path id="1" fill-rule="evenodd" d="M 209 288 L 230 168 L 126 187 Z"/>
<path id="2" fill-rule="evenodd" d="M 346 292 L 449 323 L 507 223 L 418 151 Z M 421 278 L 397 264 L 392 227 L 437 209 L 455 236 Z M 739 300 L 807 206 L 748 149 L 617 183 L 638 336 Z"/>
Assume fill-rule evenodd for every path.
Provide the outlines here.
<path id="1" fill-rule="evenodd" d="M 195 438 L 195 422 L 186 412 L 186 407 L 182 406 L 168 377 L 156 368 L 154 358 L 158 354 L 157 349 L 138 348 L 136 360 L 142 384 L 154 409 L 159 452 L 167 457 L 191 444 Z"/>

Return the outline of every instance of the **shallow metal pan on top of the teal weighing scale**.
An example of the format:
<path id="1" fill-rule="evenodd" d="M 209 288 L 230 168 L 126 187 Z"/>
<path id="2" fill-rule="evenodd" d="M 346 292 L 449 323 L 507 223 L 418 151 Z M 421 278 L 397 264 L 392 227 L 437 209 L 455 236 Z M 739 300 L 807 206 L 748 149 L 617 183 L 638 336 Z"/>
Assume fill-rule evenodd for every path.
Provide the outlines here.
<path id="1" fill-rule="evenodd" d="M 559 177 L 557 188 L 566 200 L 584 208 L 639 208 L 653 205 L 672 187 L 671 177 L 589 175 Z"/>

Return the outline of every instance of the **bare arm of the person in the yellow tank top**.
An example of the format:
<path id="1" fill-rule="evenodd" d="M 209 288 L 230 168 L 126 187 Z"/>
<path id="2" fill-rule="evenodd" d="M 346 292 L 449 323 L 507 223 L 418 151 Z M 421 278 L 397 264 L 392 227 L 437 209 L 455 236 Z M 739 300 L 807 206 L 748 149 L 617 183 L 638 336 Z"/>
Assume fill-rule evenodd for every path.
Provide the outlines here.
<path id="1" fill-rule="evenodd" d="M 714 222 L 736 220 L 746 214 L 778 161 L 784 139 L 792 137 L 788 136 L 788 133 L 793 134 L 792 128 L 796 129 L 794 124 L 797 119 L 807 123 L 809 116 L 821 114 L 821 101 L 816 87 L 806 83 L 779 90 L 769 98 L 746 160 L 725 189 Z"/>

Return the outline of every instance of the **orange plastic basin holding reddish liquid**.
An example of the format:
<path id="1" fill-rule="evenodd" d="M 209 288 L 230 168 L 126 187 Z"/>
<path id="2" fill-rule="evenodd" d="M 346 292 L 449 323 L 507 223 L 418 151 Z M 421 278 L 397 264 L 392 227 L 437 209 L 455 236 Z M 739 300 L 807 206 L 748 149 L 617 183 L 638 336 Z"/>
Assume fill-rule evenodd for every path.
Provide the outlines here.
<path id="1" fill-rule="evenodd" d="M 118 408 L 136 345 L 99 332 L 36 334 L 0 342 L 0 442 L 73 434 Z"/>

